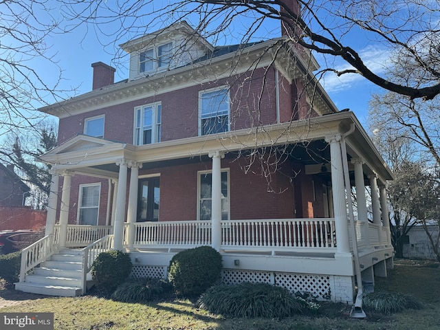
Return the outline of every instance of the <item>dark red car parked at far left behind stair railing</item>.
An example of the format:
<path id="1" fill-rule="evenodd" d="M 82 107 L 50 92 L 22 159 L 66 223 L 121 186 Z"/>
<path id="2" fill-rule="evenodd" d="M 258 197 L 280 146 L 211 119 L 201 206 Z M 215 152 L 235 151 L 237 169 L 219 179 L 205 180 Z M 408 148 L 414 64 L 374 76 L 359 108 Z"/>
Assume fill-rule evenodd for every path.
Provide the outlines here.
<path id="1" fill-rule="evenodd" d="M 33 230 L 1 230 L 0 254 L 19 251 L 41 239 L 41 232 Z"/>

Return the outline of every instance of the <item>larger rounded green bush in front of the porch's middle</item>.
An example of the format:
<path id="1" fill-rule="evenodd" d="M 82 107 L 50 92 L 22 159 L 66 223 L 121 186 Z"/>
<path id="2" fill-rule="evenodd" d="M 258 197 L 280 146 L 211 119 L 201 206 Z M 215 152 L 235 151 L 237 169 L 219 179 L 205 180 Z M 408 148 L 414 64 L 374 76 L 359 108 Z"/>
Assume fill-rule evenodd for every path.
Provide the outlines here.
<path id="1" fill-rule="evenodd" d="M 168 279 L 179 296 L 199 296 L 220 278 L 221 255 L 209 246 L 181 251 L 170 261 Z"/>

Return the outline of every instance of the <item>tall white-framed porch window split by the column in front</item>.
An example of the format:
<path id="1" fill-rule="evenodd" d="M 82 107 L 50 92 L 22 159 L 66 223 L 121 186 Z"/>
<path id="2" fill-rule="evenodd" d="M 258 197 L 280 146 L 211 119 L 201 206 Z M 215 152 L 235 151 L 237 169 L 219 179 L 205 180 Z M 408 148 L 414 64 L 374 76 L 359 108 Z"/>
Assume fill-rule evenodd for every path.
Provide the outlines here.
<path id="1" fill-rule="evenodd" d="M 229 214 L 229 180 L 228 170 L 221 171 L 221 219 L 230 219 Z M 212 171 L 199 172 L 198 219 L 211 220 L 212 213 Z"/>

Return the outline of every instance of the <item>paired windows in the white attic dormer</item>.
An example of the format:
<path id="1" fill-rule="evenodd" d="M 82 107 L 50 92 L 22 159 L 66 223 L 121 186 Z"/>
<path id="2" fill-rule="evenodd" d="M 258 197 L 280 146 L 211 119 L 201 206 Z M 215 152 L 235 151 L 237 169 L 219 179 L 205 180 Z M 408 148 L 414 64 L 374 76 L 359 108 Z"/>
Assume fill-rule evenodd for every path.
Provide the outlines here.
<path id="1" fill-rule="evenodd" d="M 173 57 L 173 43 L 166 43 L 140 53 L 139 72 L 151 72 L 169 67 Z"/>

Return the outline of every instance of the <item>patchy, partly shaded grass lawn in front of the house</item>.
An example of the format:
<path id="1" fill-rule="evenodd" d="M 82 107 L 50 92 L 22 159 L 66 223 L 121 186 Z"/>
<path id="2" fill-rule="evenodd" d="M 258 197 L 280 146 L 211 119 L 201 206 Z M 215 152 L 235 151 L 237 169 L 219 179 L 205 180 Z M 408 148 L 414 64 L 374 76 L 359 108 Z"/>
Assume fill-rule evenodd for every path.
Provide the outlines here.
<path id="1" fill-rule="evenodd" d="M 295 329 L 295 330 L 412 330 L 439 329 L 440 268 L 429 261 L 395 261 L 388 279 L 376 278 L 375 290 L 412 294 L 424 305 L 421 310 L 408 310 L 385 315 L 366 311 L 364 320 L 349 318 L 351 306 L 322 304 L 315 317 L 296 316 L 283 319 L 223 318 L 197 309 L 190 300 L 174 300 L 148 304 L 118 303 L 96 296 L 78 298 L 41 298 L 0 312 L 53 312 L 54 329 Z M 0 297 L 13 296 L 10 289 L 0 289 Z"/>

